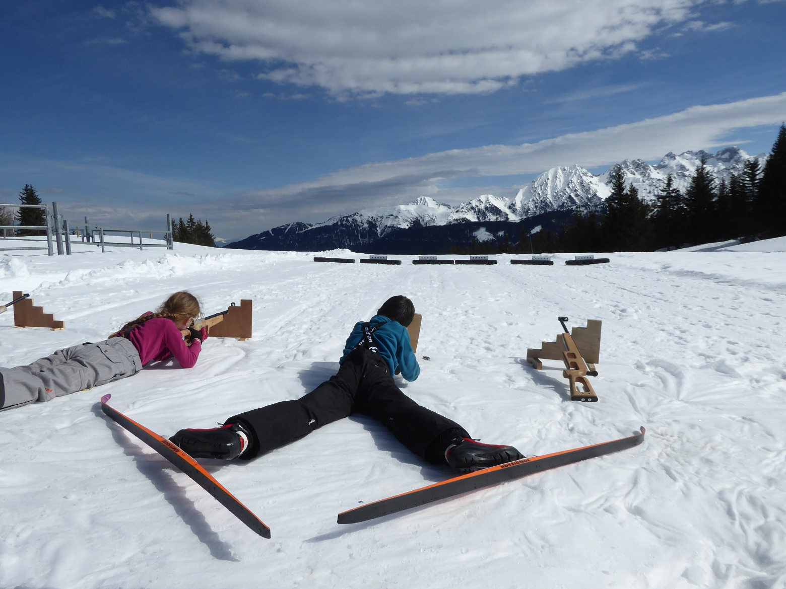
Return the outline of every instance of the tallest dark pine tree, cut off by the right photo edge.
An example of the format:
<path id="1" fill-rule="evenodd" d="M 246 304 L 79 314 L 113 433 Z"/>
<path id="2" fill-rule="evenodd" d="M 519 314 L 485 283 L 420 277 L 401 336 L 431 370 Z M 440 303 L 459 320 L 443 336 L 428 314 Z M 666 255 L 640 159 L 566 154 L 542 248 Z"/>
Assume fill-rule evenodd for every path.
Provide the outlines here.
<path id="1" fill-rule="evenodd" d="M 769 237 L 786 235 L 786 125 L 780 126 L 773 151 L 764 164 L 755 210 L 756 232 Z"/>

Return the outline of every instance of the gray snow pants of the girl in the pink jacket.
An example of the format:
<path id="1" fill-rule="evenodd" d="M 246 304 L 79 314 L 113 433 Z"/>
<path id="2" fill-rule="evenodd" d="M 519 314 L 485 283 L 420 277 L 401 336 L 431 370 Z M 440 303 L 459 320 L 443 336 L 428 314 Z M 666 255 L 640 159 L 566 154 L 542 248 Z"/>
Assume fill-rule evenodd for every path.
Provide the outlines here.
<path id="1" fill-rule="evenodd" d="M 141 369 L 139 353 L 126 338 L 58 349 L 27 366 L 0 368 L 0 411 L 91 389 Z"/>

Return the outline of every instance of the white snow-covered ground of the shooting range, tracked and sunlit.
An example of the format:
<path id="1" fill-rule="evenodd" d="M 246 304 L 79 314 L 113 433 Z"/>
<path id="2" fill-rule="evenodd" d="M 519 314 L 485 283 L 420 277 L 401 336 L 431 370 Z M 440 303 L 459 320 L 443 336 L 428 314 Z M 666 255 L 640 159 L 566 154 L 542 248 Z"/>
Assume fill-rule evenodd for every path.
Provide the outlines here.
<path id="1" fill-rule="evenodd" d="M 193 369 L 150 366 L 0 413 L 0 587 L 786 587 L 784 245 L 590 266 L 557 254 L 550 267 L 181 244 L 0 252 L 0 303 L 28 291 L 67 327 L 0 315 L 3 366 L 99 341 L 180 289 L 208 312 L 254 301 L 252 340 L 209 338 Z M 418 356 L 432 359 L 406 393 L 474 437 L 542 455 L 643 425 L 644 444 L 355 525 L 336 514 L 449 472 L 362 416 L 250 463 L 204 461 L 270 525 L 264 540 L 99 408 L 112 393 L 171 435 L 294 399 L 393 294 L 423 313 Z M 598 403 L 568 400 L 559 363 L 523 360 L 553 341 L 558 315 L 603 320 Z"/>

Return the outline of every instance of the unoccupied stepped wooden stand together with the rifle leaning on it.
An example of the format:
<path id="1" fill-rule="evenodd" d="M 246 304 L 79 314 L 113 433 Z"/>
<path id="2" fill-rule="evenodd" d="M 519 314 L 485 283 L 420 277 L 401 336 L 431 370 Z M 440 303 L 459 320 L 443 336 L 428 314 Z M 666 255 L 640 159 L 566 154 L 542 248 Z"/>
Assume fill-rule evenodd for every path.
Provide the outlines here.
<path id="1" fill-rule="evenodd" d="M 527 362 L 542 370 L 541 360 L 562 360 L 565 364 L 562 375 L 571 383 L 571 401 L 597 401 L 597 394 L 586 377 L 597 376 L 595 364 L 601 353 L 603 322 L 590 319 L 586 327 L 573 327 L 569 334 L 564 324 L 567 317 L 559 320 L 564 333 L 556 336 L 556 342 L 542 342 L 540 349 L 527 349 Z M 578 390 L 578 385 L 583 390 Z"/>

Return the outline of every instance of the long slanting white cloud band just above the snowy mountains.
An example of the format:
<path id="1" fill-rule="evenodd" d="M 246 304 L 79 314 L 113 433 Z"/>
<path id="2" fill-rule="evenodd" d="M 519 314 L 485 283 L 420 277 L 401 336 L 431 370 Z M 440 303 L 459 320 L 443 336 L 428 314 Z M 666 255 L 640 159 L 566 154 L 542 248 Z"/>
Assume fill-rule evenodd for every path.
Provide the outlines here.
<path id="1" fill-rule="evenodd" d="M 412 196 L 436 196 L 441 181 L 457 177 L 538 174 L 553 166 L 596 168 L 623 159 L 659 159 L 667 152 L 717 148 L 734 130 L 786 120 L 786 92 L 729 104 L 694 106 L 672 115 L 576 133 L 523 145 L 452 149 L 422 157 L 338 170 L 316 181 L 250 192 L 230 207 L 297 209 L 336 214 L 356 204 L 400 204 Z M 224 203 L 227 204 L 226 202 Z M 295 220 L 295 219 L 292 219 Z"/>

